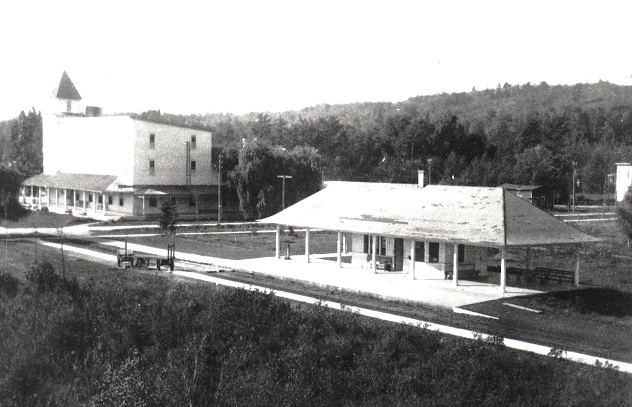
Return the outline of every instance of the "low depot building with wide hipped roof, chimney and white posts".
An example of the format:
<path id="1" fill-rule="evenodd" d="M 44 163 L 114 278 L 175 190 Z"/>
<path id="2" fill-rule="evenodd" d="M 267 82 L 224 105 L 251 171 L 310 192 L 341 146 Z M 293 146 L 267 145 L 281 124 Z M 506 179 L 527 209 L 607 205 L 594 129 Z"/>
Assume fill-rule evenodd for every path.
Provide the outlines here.
<path id="1" fill-rule="evenodd" d="M 507 249 L 599 241 L 542 211 L 502 187 L 331 182 L 286 210 L 260 220 L 337 232 L 337 265 L 404 272 L 413 279 L 453 279 L 459 273 L 485 274 L 488 249 L 500 251 L 501 291 L 506 285 Z M 577 251 L 576 253 L 579 253 Z M 574 283 L 579 284 L 579 254 Z"/>

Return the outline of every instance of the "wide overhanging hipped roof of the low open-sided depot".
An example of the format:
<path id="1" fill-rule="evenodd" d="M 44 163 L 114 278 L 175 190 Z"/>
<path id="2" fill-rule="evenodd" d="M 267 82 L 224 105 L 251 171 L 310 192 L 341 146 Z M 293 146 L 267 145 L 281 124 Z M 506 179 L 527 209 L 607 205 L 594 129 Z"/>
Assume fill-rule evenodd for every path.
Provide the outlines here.
<path id="1" fill-rule="evenodd" d="M 335 182 L 260 222 L 491 247 L 599 241 L 500 187 Z"/>

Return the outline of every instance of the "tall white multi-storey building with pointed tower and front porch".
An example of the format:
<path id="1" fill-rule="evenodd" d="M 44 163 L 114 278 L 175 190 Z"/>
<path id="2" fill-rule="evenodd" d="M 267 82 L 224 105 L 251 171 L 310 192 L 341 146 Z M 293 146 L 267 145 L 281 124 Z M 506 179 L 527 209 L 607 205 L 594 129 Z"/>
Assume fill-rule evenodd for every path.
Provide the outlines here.
<path id="1" fill-rule="evenodd" d="M 54 99 L 58 110 L 42 114 L 44 172 L 23 182 L 24 206 L 96 218 L 157 214 L 167 199 L 181 214 L 217 210 L 209 130 L 82 113 L 66 72 Z"/>

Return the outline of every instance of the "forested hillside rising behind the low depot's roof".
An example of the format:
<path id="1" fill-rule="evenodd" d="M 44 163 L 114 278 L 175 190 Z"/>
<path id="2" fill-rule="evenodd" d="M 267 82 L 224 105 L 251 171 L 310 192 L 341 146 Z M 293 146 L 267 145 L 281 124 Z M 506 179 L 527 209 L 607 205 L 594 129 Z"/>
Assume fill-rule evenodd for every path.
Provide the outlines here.
<path id="1" fill-rule="evenodd" d="M 496 89 L 416 96 L 400 103 L 318 105 L 250 115 L 161 115 L 214 128 L 216 140 L 240 147 L 253 139 L 313 146 L 325 179 L 548 185 L 558 202 L 571 190 L 612 191 L 614 163 L 632 160 L 632 87 L 597 84 L 498 85 Z M 432 160 L 432 161 L 428 161 Z"/>

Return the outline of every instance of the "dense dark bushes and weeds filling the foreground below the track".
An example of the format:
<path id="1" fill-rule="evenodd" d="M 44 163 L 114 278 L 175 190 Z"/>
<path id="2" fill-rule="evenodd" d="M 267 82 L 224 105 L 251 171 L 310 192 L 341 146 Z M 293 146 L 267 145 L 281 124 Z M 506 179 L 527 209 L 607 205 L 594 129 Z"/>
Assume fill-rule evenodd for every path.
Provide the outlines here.
<path id="1" fill-rule="evenodd" d="M 7 406 L 594 406 L 632 395 L 625 373 L 169 277 L 78 287 L 49 270 L 27 282 L 0 273 L 0 327 Z"/>

